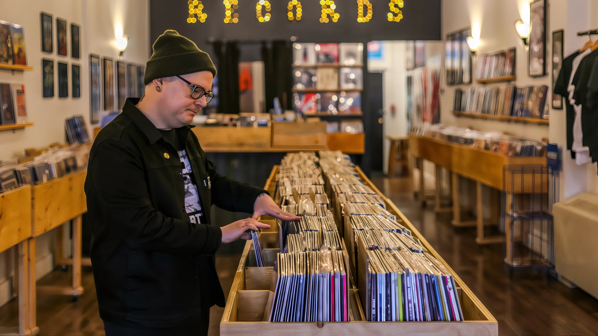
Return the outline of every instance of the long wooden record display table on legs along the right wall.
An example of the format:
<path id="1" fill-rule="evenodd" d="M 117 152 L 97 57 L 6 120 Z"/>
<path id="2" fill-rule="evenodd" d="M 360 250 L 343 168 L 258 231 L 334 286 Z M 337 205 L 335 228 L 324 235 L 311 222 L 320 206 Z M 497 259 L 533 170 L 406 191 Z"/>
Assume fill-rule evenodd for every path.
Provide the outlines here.
<path id="1" fill-rule="evenodd" d="M 484 237 L 484 225 L 498 224 L 497 209 L 492 209 L 492 221 L 484 221 L 483 218 L 483 185 L 493 188 L 490 193 L 492 204 L 500 199 L 498 191 L 503 188 L 503 167 L 506 164 L 541 164 L 546 165 L 546 157 L 509 157 L 508 155 L 486 151 L 484 149 L 472 148 L 469 145 L 448 142 L 429 136 L 410 135 L 409 146 L 411 155 L 417 161 L 428 160 L 451 172 L 451 197 L 453 200 L 453 221 L 456 227 L 477 227 L 478 236 L 476 242 L 479 244 L 502 243 L 505 237 Z M 438 170 L 438 169 L 437 169 Z M 460 187 L 459 176 L 475 181 L 475 207 L 477 218 L 474 221 L 462 221 L 460 210 Z M 423 179 L 420 179 L 423 180 Z M 420 181 L 420 193 L 424 191 L 423 181 Z M 438 193 L 437 193 L 438 198 Z"/>

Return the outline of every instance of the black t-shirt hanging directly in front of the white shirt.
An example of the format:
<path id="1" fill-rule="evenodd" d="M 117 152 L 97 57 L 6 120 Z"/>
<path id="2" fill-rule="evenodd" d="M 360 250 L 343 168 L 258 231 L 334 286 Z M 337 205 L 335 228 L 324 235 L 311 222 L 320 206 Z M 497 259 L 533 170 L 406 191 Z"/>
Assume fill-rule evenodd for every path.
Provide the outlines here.
<path id="1" fill-rule="evenodd" d="M 575 91 L 573 91 L 573 99 L 575 104 L 581 105 L 581 132 L 583 134 L 582 144 L 590 148 L 590 157 L 592 161 L 596 162 L 596 144 L 598 143 L 598 132 L 596 132 L 596 125 L 598 125 L 598 114 L 594 109 L 588 108 L 587 105 L 587 93 L 588 93 L 588 82 L 590 81 L 590 75 L 594 67 L 594 61 L 598 57 L 598 49 L 592 51 L 590 54 L 584 57 L 579 63 L 579 67 L 573 76 L 572 84 L 575 85 Z M 594 148 L 594 152 L 592 151 Z"/>

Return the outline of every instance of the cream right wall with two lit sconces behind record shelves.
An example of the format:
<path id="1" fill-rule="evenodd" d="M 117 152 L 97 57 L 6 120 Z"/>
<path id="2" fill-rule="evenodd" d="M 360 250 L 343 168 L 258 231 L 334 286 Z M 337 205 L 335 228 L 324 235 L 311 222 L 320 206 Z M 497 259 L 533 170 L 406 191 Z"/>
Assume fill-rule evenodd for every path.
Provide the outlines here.
<path id="1" fill-rule="evenodd" d="M 565 29 L 565 55 L 578 50 L 587 37 L 576 36 L 578 30 L 587 30 L 598 26 L 598 0 L 549 0 L 547 13 L 547 75 L 532 78 L 527 75 L 527 57 L 521 39 L 515 31 L 514 22 L 523 19 L 529 22 L 529 2 L 531 0 L 444 0 L 443 1 L 443 37 L 447 33 L 471 26 L 472 35 L 475 30 L 480 31 L 479 54 L 489 53 L 504 48 L 517 47 L 516 72 L 517 80 L 514 85 L 548 85 L 548 94 L 552 94 L 552 32 Z M 474 69 L 475 74 L 475 60 Z M 444 76 L 444 72 L 443 72 Z M 557 143 L 562 150 L 563 171 L 561 175 L 561 200 L 574 196 L 582 191 L 596 192 L 596 164 L 576 166 L 566 151 L 565 109 L 550 108 L 550 126 L 535 126 L 532 124 L 503 123 L 498 121 L 475 120 L 470 118 L 455 118 L 451 115 L 454 90 L 457 87 L 469 85 L 447 86 L 443 78 L 441 85 L 445 88 L 441 96 L 441 123 L 462 127 L 472 127 L 477 130 L 508 132 L 518 136 L 525 136 L 541 140 L 548 138 Z M 471 84 L 471 85 L 477 85 Z M 495 85 L 505 85 L 495 84 Z M 564 148 L 564 149 L 563 149 Z"/>

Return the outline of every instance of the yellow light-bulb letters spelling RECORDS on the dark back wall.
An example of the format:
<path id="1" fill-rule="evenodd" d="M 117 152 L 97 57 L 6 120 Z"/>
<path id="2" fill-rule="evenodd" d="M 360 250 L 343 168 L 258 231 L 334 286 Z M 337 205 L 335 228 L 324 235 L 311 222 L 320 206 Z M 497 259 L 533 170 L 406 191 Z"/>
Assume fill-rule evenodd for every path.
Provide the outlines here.
<path id="1" fill-rule="evenodd" d="M 404 0 L 388 0 L 388 7 L 384 8 L 385 13 L 382 9 L 376 8 L 376 17 L 374 17 L 374 0 L 356 0 L 357 11 L 354 17 L 349 19 L 355 20 L 357 23 L 366 23 L 370 20 L 388 20 L 389 22 L 399 22 L 403 18 L 401 8 L 404 6 Z M 206 1 L 208 2 L 208 1 Z M 276 2 L 276 4 L 273 4 Z M 319 22 L 321 23 L 335 23 L 341 19 L 339 13 L 337 13 L 338 6 L 349 5 L 345 0 L 337 0 L 335 4 L 334 0 L 292 0 L 288 1 L 286 5 L 286 18 L 291 22 L 298 22 L 304 16 L 304 10 L 306 8 L 303 5 L 309 4 L 309 10 L 316 10 L 313 5 L 318 5 L 317 10 L 320 11 L 321 16 Z M 315 2 L 315 4 L 312 4 Z M 208 17 L 205 13 L 206 6 L 202 1 L 188 0 L 188 13 L 187 23 L 203 23 L 208 20 L 221 20 L 224 19 L 224 23 L 239 23 L 239 20 L 252 20 L 251 17 L 244 18 L 240 17 L 239 13 L 235 13 L 235 10 L 239 9 L 239 6 L 249 6 L 255 3 L 255 20 L 261 23 L 268 23 L 272 18 L 273 13 L 270 13 L 273 6 L 284 6 L 286 0 L 224 0 L 222 4 L 219 1 L 210 1 L 209 6 L 221 7 L 222 16 L 217 18 Z M 378 6 L 377 6 L 378 7 Z M 344 19 L 344 18 L 343 18 Z"/>

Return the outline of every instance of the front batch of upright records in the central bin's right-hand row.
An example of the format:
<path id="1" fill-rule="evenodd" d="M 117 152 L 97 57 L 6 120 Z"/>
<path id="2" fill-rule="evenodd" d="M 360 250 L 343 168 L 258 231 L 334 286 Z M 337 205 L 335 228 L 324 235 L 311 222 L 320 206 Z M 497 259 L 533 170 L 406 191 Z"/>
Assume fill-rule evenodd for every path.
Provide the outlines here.
<path id="1" fill-rule="evenodd" d="M 362 307 L 370 321 L 461 321 L 453 276 L 403 233 L 359 231 Z"/>

